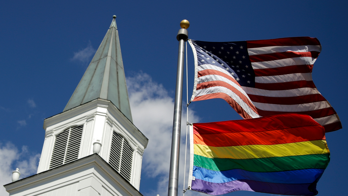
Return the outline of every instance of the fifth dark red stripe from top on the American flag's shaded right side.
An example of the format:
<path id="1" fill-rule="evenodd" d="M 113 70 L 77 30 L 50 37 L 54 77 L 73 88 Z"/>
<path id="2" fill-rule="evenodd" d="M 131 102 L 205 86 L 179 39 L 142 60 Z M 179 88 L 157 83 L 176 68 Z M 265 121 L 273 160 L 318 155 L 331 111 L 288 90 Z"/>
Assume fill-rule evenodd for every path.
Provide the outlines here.
<path id="1" fill-rule="evenodd" d="M 297 97 L 265 97 L 248 94 L 248 97 L 254 102 L 279 105 L 308 104 L 318 101 L 326 101 L 321 94 L 303 95 Z"/>

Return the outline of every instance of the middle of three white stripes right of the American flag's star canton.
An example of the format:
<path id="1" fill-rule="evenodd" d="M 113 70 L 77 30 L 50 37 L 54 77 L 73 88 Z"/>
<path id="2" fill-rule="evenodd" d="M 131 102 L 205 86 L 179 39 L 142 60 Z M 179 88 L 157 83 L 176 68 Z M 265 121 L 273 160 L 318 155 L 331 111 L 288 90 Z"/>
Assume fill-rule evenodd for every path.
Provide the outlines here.
<path id="1" fill-rule="evenodd" d="M 274 61 L 252 62 L 251 65 L 254 69 L 267 69 L 293 65 L 313 65 L 315 60 L 315 58 L 312 58 L 310 56 L 301 56 L 295 58 L 279 59 Z"/>

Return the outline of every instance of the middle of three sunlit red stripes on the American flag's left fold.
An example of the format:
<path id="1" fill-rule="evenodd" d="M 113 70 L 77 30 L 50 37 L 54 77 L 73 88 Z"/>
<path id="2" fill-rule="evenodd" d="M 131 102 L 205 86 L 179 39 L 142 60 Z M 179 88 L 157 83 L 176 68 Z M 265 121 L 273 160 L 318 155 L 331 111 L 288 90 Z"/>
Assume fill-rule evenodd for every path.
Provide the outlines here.
<path id="1" fill-rule="evenodd" d="M 256 107 L 254 106 L 254 104 L 251 103 L 251 101 L 245 95 L 243 95 L 242 92 L 240 92 L 238 89 L 236 89 L 235 87 L 233 87 L 232 85 L 230 85 L 230 84 L 228 84 L 226 82 L 223 82 L 223 81 L 210 81 L 210 82 L 199 83 L 199 84 L 197 84 L 197 90 L 199 90 L 199 89 L 206 89 L 206 88 L 214 87 L 214 86 L 223 86 L 225 88 L 228 88 L 232 92 L 236 93 L 236 95 L 240 99 L 242 99 L 254 112 L 257 111 Z"/>

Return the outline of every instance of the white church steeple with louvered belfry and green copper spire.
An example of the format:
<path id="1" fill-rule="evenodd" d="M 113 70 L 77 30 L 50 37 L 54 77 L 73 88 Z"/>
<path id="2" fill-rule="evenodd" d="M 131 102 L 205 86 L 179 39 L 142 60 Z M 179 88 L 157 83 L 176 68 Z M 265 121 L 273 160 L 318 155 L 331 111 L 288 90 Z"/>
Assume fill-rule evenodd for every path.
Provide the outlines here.
<path id="1" fill-rule="evenodd" d="M 116 16 L 64 111 L 44 129 L 37 174 L 6 184 L 10 195 L 141 196 L 148 139 L 132 123 Z"/>

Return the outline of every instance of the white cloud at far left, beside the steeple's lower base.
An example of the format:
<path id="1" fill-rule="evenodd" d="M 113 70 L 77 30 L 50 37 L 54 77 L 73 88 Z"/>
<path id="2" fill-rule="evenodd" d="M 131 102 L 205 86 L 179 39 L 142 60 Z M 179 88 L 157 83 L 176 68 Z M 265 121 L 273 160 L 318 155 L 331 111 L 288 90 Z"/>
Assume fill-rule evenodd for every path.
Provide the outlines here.
<path id="1" fill-rule="evenodd" d="M 12 172 L 19 168 L 21 176 L 19 179 L 36 174 L 40 154 L 32 154 L 26 146 L 22 147 L 21 152 L 15 145 L 0 143 L 0 195 L 9 195 L 2 185 L 12 182 Z"/>

